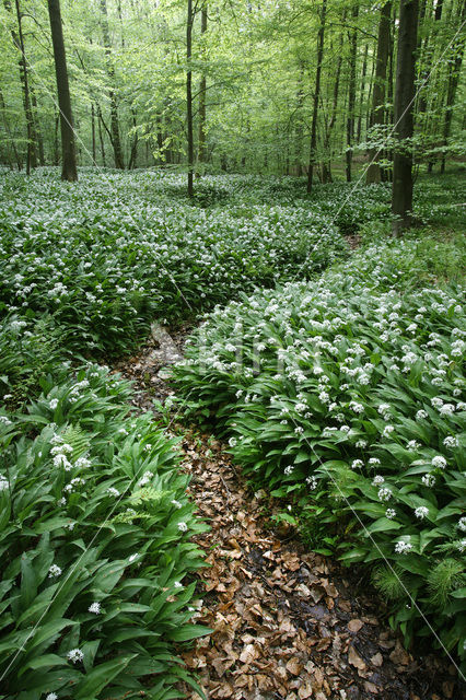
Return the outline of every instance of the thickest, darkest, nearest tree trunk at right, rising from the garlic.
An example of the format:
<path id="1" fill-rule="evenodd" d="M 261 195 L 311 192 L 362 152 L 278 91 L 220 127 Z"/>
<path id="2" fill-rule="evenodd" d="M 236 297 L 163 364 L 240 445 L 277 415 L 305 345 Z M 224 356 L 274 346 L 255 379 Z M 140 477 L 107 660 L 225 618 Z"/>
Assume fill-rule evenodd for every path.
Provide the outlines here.
<path id="1" fill-rule="evenodd" d="M 406 139 L 411 139 L 413 132 L 418 14 L 418 0 L 400 0 L 395 85 L 395 138 L 398 145 L 394 153 L 392 190 L 395 236 L 399 236 L 411 224 L 412 154 Z"/>

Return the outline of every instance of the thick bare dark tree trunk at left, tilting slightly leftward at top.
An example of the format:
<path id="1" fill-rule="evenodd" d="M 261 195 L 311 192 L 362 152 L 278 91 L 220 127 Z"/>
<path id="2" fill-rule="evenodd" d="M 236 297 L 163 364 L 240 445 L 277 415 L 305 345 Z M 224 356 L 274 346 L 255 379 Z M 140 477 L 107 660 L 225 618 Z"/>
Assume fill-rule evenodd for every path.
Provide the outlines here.
<path id="1" fill-rule="evenodd" d="M 67 57 L 65 54 L 63 32 L 61 27 L 60 0 L 48 0 L 48 15 L 50 18 L 58 106 L 60 109 L 62 160 L 61 179 L 72 183 L 78 179 L 78 171 L 74 148 L 73 116 L 71 113 L 70 88 L 68 84 Z"/>

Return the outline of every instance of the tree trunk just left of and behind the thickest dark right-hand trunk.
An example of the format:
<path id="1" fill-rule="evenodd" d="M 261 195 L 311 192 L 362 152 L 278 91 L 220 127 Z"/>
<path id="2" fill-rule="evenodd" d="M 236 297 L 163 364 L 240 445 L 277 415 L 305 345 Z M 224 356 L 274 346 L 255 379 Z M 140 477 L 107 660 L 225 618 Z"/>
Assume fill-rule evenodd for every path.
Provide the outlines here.
<path id="1" fill-rule="evenodd" d="M 385 107 L 385 81 L 387 73 L 388 49 L 389 49 L 389 23 L 392 18 L 392 0 L 388 0 L 381 10 L 378 23 L 377 57 L 375 59 L 375 79 L 372 88 L 372 114 L 370 127 L 384 124 Z M 381 151 L 371 149 L 368 151 L 369 167 L 365 176 L 368 185 L 381 182 L 381 166 L 375 161 L 380 158 Z"/>

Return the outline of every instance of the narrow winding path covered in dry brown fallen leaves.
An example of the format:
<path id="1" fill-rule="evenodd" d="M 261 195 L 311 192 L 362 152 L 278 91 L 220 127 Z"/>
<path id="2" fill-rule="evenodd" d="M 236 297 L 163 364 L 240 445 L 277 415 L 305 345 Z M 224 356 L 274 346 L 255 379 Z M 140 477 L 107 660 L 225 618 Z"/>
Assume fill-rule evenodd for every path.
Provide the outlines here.
<path id="1" fill-rule="evenodd" d="M 114 369 L 135 382 L 133 405 L 153 410 L 173 394 L 172 364 L 186 329 L 153 326 L 139 354 Z M 180 655 L 208 700 L 450 700 L 466 697 L 440 654 L 408 653 L 385 621 L 385 606 L 361 572 L 304 548 L 291 528 L 271 525 L 265 492 L 252 493 L 226 446 L 168 417 L 180 468 L 210 525 L 196 541 L 208 567 L 197 574 L 194 619 L 209 637 Z M 364 586 L 364 587 L 363 587 Z M 183 688 L 189 700 L 198 693 Z"/>

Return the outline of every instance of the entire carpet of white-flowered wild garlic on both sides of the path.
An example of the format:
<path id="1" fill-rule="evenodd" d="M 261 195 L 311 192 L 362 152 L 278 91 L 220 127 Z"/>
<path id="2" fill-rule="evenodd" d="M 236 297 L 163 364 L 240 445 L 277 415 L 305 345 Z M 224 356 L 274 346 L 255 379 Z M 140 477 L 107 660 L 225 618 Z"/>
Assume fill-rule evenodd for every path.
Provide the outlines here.
<path id="1" fill-rule="evenodd" d="M 182 409 L 215 417 L 313 549 L 377 563 L 407 642 L 431 632 L 420 609 L 461 655 L 458 180 L 423 183 L 424 229 L 395 244 L 386 184 L 310 198 L 295 178 L 220 175 L 189 200 L 177 174 L 80 175 L 2 174 L 5 698 L 165 698 L 187 677 L 173 643 L 205 632 L 188 541 L 203 526 L 175 445 L 86 357 L 215 304 L 175 370 Z"/>

